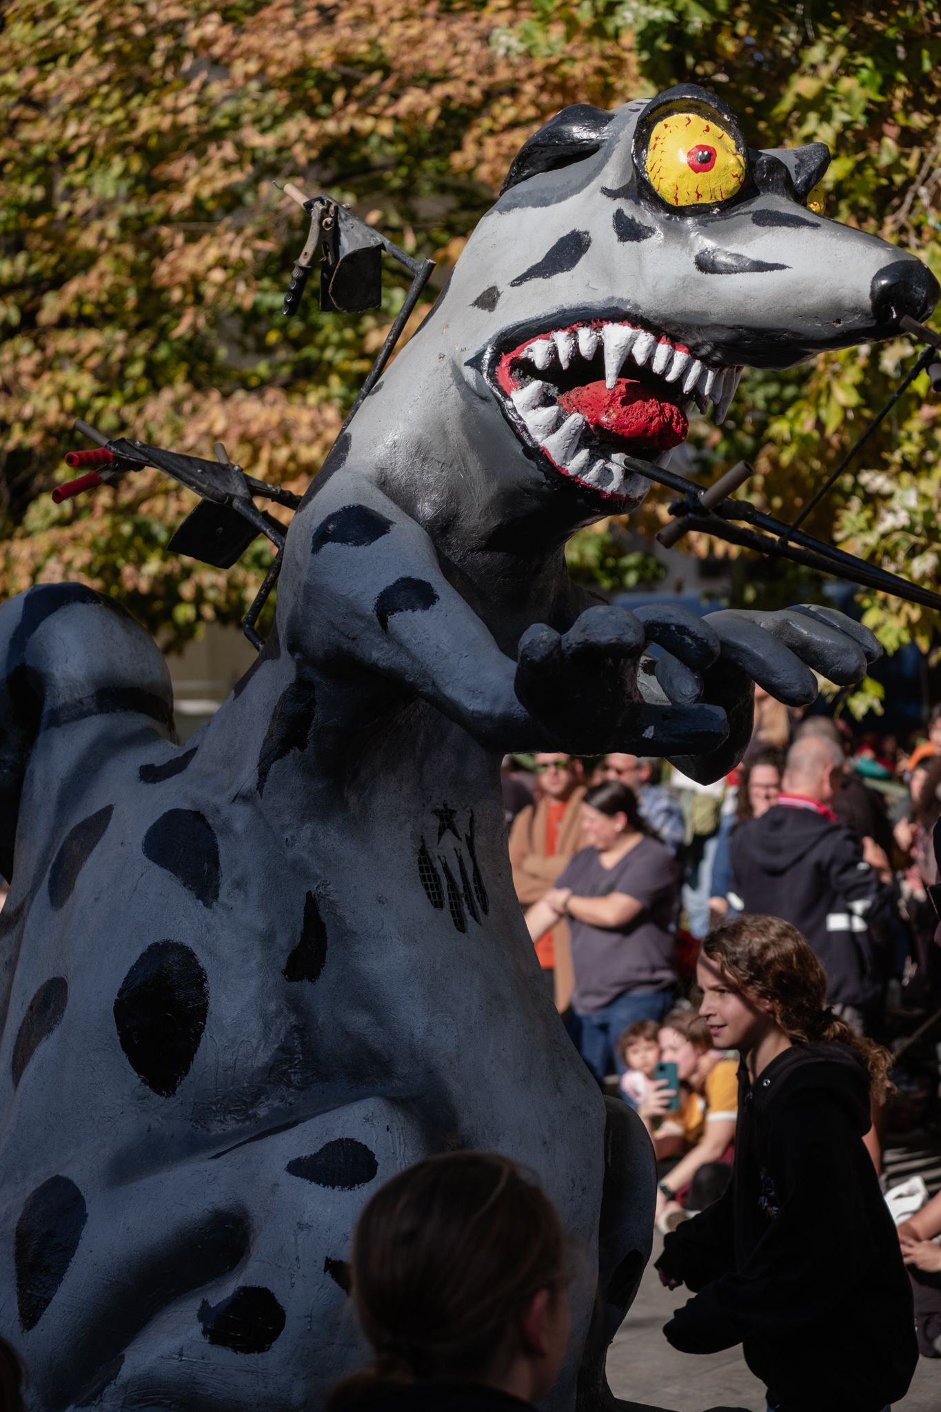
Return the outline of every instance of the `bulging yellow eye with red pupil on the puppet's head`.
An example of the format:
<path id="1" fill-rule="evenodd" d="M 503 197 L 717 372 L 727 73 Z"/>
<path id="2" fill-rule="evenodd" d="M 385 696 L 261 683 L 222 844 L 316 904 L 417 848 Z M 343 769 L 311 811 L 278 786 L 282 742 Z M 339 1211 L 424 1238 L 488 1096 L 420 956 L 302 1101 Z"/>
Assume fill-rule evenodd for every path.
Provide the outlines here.
<path id="1" fill-rule="evenodd" d="M 670 206 L 708 206 L 741 189 L 745 157 L 715 119 L 670 113 L 650 133 L 646 169 L 655 192 Z"/>

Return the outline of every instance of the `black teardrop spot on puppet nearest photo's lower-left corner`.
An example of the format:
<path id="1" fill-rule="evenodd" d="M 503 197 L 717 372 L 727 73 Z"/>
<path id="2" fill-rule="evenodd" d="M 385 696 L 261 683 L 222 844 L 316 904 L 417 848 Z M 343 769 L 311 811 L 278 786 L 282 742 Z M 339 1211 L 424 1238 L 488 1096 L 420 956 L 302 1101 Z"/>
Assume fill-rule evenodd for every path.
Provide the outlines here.
<path id="1" fill-rule="evenodd" d="M 85 1197 L 68 1176 L 51 1176 L 27 1197 L 14 1237 L 17 1305 L 27 1333 L 65 1279 L 86 1220 Z"/>

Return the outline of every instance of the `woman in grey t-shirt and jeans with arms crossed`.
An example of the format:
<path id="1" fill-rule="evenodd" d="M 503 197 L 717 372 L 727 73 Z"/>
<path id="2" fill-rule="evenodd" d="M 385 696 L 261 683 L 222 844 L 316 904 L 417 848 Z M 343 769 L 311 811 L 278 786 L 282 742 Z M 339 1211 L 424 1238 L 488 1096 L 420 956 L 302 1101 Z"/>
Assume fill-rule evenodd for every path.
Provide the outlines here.
<path id="1" fill-rule="evenodd" d="M 662 1019 L 676 986 L 673 854 L 648 832 L 636 796 L 605 782 L 581 805 L 587 849 L 526 912 L 530 936 L 564 916 L 571 929 L 573 1038 L 598 1080 L 622 1069 L 614 1045 L 635 1019 Z"/>

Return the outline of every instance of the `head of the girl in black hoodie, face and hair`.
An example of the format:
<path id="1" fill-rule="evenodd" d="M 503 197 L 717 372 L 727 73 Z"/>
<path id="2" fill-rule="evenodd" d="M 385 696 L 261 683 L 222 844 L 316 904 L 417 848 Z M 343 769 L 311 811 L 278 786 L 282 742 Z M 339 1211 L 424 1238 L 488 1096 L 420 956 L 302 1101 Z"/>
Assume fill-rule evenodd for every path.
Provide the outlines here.
<path id="1" fill-rule="evenodd" d="M 710 932 L 696 979 L 717 1049 L 749 1053 L 772 1031 L 791 1043 L 835 1039 L 856 1051 L 875 1096 L 885 1097 L 892 1056 L 827 1005 L 827 973 L 790 922 L 746 914 Z"/>

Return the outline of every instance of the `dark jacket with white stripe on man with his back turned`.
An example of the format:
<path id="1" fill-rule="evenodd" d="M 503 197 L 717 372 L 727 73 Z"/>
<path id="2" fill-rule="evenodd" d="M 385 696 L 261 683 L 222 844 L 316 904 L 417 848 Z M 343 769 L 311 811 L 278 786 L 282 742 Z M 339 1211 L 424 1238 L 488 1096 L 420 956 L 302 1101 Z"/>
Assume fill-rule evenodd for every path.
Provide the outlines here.
<path id="1" fill-rule="evenodd" d="M 739 825 L 731 854 L 731 894 L 742 911 L 803 932 L 827 971 L 831 1004 L 872 1004 L 882 990 L 872 929 L 886 925 L 893 892 L 849 829 L 813 806 L 776 805 Z"/>

